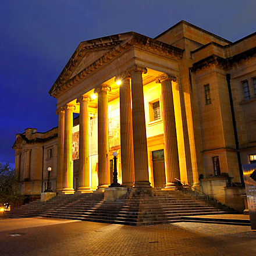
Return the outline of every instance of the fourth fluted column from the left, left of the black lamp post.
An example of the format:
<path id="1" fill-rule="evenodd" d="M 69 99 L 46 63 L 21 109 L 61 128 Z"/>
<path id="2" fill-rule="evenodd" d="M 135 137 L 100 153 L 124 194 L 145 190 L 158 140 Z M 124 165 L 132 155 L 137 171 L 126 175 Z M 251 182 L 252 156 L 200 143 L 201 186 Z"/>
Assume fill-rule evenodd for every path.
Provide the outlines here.
<path id="1" fill-rule="evenodd" d="M 111 88 L 104 84 L 95 89 L 95 93 L 98 93 L 98 189 L 105 189 L 110 184 L 108 91 L 111 91 Z"/>

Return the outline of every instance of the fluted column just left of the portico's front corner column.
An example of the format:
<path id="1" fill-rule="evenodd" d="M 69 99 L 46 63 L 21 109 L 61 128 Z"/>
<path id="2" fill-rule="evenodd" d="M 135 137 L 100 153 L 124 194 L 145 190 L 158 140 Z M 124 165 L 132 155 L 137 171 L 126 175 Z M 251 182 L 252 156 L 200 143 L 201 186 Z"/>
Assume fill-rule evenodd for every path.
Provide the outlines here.
<path id="1" fill-rule="evenodd" d="M 120 139 L 122 159 L 122 186 L 132 187 L 134 183 L 133 123 L 131 116 L 130 77 L 122 77 L 120 92 Z"/>

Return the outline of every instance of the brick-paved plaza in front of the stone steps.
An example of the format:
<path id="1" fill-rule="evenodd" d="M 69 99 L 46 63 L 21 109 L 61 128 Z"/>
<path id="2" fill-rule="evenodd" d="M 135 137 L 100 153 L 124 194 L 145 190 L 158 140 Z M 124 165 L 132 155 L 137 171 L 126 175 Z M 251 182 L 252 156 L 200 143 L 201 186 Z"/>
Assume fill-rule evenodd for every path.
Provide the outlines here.
<path id="1" fill-rule="evenodd" d="M 0 255 L 256 255 L 250 226 L 180 222 L 152 226 L 0 219 Z"/>

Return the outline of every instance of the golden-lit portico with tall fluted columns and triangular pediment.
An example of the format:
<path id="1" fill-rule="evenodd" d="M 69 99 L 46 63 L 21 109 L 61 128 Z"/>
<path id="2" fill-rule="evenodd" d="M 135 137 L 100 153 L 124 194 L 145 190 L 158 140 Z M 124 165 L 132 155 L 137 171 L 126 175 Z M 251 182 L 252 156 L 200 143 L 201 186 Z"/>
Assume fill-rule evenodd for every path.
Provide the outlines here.
<path id="1" fill-rule="evenodd" d="M 93 191 L 95 176 L 97 190 L 104 190 L 111 184 L 110 161 L 113 151 L 118 151 L 119 182 L 122 186 L 154 186 L 151 155 L 148 155 L 151 154 L 147 143 L 149 138 L 155 141 L 153 148 L 161 147 L 164 150 L 165 189 L 173 189 L 175 177 L 180 178 L 180 168 L 172 83 L 179 76 L 177 60 L 181 58 L 182 51 L 170 45 L 158 44 L 156 40 L 148 40 L 148 47 L 143 41 L 145 38 L 136 33 L 119 35 L 122 42 L 111 39 L 108 38 L 108 44 L 97 45 L 98 48 L 109 48 L 109 45 L 112 47 L 108 52 L 105 50 L 104 54 L 102 51 L 102 56 L 93 63 L 90 63 L 93 61 L 90 58 L 92 46 L 88 47 L 87 42 L 82 42 L 75 52 L 76 56 L 71 60 L 72 63 L 67 63 L 67 66 L 70 64 L 69 69 L 62 74 L 62 79 L 59 78 L 55 82 L 50 91 L 50 94 L 58 99 L 58 191 L 65 194 L 74 193 L 73 113 L 80 114 L 77 193 Z M 95 47 L 94 45 L 93 49 Z M 148 62 L 149 59 L 151 62 Z M 83 62 L 90 65 L 82 68 Z M 65 78 L 67 73 L 72 73 L 68 79 Z M 161 120 L 146 122 L 147 116 L 152 113 L 145 113 L 150 111 L 147 105 L 151 104 L 145 101 L 145 93 L 153 93 L 153 98 L 157 97 L 161 102 Z M 180 104 L 179 100 L 176 100 L 176 104 Z M 115 136 L 120 143 L 112 143 L 109 138 L 109 129 L 112 127 L 109 127 L 108 115 L 113 105 L 119 112 L 120 131 Z M 94 118 L 97 118 L 97 159 L 94 157 L 93 160 L 89 155 L 88 122 Z M 154 134 L 154 131 L 157 133 Z"/>

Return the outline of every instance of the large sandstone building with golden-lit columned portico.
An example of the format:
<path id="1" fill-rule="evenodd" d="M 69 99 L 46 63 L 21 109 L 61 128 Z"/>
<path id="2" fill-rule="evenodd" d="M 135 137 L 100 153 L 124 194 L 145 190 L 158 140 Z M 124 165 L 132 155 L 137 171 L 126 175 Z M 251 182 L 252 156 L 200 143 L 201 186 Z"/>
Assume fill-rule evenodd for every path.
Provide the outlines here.
<path id="1" fill-rule="evenodd" d="M 49 91 L 58 127 L 16 136 L 21 193 L 39 195 L 48 166 L 58 193 L 104 190 L 116 151 L 123 186 L 179 179 L 241 208 L 241 165 L 256 161 L 255 54 L 255 33 L 230 42 L 184 21 L 155 38 L 80 42 Z"/>

